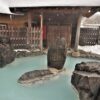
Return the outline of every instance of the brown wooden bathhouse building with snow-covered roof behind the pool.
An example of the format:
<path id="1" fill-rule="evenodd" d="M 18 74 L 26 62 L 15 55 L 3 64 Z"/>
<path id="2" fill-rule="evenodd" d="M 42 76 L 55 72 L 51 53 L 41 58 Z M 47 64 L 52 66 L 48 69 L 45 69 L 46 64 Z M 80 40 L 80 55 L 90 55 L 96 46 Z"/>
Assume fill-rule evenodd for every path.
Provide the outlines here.
<path id="1" fill-rule="evenodd" d="M 58 36 L 66 39 L 69 48 L 77 48 L 81 17 L 89 17 L 100 10 L 98 3 L 83 2 L 80 6 L 82 3 L 78 1 L 70 5 L 64 4 L 64 0 L 57 5 L 55 1 L 51 5 L 45 0 L 45 4 L 36 0 L 8 1 L 11 14 L 0 14 L 0 35 L 9 36 L 14 48 L 42 50 L 54 43 Z"/>

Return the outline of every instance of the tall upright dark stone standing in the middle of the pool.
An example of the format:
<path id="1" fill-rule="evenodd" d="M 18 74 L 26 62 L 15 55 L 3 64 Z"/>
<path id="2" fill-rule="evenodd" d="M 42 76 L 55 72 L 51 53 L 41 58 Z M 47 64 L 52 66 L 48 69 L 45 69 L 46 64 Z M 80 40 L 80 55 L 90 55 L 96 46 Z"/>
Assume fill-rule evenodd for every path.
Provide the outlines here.
<path id="1" fill-rule="evenodd" d="M 49 68 L 61 70 L 66 60 L 66 42 L 64 38 L 57 38 L 47 53 L 47 61 Z"/>

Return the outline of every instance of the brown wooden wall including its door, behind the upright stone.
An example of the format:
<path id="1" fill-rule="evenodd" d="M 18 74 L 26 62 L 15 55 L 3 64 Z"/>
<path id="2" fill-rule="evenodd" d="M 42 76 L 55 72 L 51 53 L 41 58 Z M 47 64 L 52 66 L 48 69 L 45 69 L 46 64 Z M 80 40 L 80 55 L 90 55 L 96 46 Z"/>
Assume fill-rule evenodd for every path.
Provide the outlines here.
<path id="1" fill-rule="evenodd" d="M 74 47 L 78 16 L 79 13 L 44 13 L 44 24 L 47 26 L 48 45 L 53 41 L 55 34 L 64 33 L 67 34 L 65 35 L 65 38 L 67 40 L 68 47 Z"/>

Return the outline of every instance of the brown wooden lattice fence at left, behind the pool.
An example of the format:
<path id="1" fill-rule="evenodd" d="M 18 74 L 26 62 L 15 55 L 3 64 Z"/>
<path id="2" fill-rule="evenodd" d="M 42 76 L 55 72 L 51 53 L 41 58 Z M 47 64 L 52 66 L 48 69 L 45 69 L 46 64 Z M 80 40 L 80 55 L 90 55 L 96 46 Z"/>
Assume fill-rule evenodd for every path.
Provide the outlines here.
<path id="1" fill-rule="evenodd" d="M 0 36 L 9 37 L 14 49 L 40 48 L 40 29 L 37 27 L 29 32 L 26 27 L 0 26 Z"/>

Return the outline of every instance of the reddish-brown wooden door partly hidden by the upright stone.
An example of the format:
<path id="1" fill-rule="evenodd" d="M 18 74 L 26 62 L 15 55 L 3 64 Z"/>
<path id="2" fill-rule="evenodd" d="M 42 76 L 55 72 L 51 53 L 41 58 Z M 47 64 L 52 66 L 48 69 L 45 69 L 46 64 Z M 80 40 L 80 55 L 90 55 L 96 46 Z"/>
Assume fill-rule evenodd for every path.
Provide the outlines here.
<path id="1" fill-rule="evenodd" d="M 64 37 L 66 39 L 67 47 L 70 47 L 71 45 L 71 25 L 49 25 L 47 27 L 47 45 L 52 45 L 56 38 Z"/>

